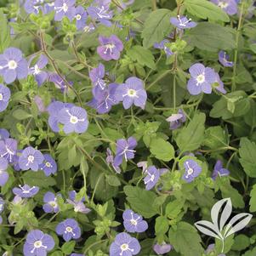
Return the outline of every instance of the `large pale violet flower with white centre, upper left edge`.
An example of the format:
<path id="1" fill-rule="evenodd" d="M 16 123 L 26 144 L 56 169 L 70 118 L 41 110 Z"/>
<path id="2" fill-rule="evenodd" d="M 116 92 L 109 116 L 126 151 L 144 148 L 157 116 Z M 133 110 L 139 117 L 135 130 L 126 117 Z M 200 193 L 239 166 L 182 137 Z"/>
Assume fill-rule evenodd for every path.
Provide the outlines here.
<path id="1" fill-rule="evenodd" d="M 16 78 L 26 78 L 28 64 L 19 48 L 7 48 L 0 54 L 0 75 L 6 83 L 14 82 Z"/>

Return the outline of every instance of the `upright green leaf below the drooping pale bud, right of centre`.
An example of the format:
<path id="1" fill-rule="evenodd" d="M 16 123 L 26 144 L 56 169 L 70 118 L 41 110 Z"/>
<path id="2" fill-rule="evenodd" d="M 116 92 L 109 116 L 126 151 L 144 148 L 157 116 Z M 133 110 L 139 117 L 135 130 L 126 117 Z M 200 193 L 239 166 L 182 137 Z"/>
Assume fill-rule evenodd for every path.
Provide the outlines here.
<path id="1" fill-rule="evenodd" d="M 176 139 L 180 151 L 195 151 L 204 139 L 205 114 L 198 113 L 192 118 L 187 127 L 182 128 Z"/>

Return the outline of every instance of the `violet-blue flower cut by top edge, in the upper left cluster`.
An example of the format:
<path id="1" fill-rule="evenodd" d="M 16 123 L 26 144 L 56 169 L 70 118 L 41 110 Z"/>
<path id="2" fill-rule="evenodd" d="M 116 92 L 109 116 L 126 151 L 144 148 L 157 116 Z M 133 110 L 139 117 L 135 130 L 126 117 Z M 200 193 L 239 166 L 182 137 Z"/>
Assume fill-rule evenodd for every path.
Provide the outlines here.
<path id="1" fill-rule="evenodd" d="M 63 17 L 67 17 L 69 20 L 73 20 L 76 14 L 76 8 L 74 7 L 76 0 L 55 0 L 54 10 L 55 16 L 54 20 L 60 21 Z"/>

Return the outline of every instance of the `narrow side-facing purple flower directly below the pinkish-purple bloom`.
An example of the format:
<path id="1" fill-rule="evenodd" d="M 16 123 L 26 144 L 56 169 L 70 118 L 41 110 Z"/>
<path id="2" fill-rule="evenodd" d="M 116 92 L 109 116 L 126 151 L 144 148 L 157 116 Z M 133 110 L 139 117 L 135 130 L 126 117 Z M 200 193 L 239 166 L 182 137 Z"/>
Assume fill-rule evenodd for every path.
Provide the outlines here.
<path id="1" fill-rule="evenodd" d="M 102 91 L 106 87 L 106 82 L 103 79 L 105 77 L 105 66 L 100 63 L 98 67 L 89 71 L 89 77 L 94 84 L 93 94 L 96 97 L 97 91 Z"/>

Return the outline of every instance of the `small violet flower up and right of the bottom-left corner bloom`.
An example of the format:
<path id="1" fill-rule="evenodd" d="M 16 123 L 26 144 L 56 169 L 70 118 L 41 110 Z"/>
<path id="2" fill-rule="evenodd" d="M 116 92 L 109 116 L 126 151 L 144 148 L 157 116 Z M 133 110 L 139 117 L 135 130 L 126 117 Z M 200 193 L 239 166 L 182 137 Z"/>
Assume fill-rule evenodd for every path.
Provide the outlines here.
<path id="1" fill-rule="evenodd" d="M 75 219 L 65 219 L 57 225 L 56 233 L 68 242 L 72 238 L 78 239 L 81 236 L 81 229 Z"/>

